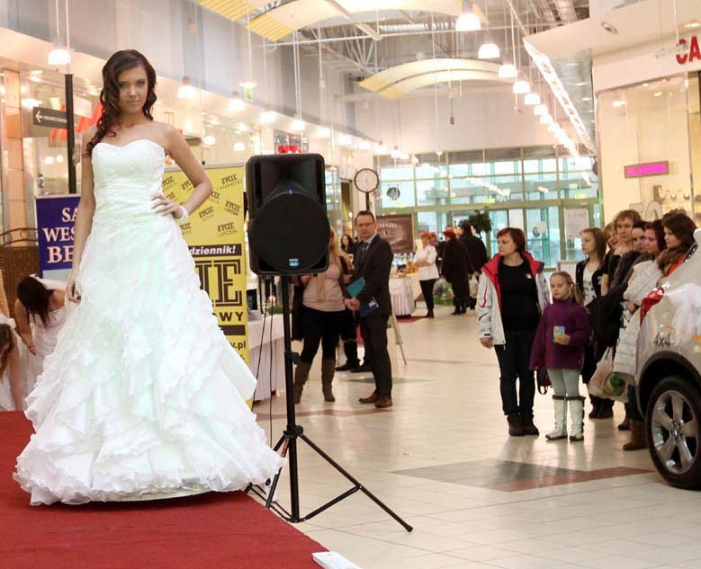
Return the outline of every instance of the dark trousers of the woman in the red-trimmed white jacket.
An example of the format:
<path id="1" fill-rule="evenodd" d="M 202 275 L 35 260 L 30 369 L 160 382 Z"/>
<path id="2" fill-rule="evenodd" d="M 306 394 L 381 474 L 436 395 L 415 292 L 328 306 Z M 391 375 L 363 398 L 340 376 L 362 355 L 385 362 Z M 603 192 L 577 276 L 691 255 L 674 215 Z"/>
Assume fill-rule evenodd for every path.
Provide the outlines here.
<path id="1" fill-rule="evenodd" d="M 507 416 L 532 417 L 535 376 L 528 366 L 535 330 L 504 332 L 506 344 L 495 346 L 499 360 L 501 408 Z M 516 382 L 518 380 L 518 395 Z"/>

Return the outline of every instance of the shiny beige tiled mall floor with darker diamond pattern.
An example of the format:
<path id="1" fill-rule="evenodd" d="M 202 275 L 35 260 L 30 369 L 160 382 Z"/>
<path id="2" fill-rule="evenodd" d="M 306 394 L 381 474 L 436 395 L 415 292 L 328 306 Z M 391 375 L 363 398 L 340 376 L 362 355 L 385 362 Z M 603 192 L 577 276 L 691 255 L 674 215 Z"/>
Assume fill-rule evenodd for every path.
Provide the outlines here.
<path id="1" fill-rule="evenodd" d="M 357 403 L 373 385 L 349 373 L 324 403 L 316 369 L 297 405 L 305 434 L 414 530 L 362 493 L 297 527 L 364 569 L 701 567 L 701 494 L 621 449 L 621 405 L 614 420 L 585 419 L 583 443 L 509 438 L 494 352 L 474 313 L 449 312 L 400 324 L 408 363 L 398 351 L 391 409 Z M 276 440 L 283 397 L 254 411 Z M 536 395 L 535 423 L 552 422 L 550 396 Z M 303 443 L 299 475 L 302 515 L 350 487 Z M 279 493 L 289 506 L 287 476 Z"/>

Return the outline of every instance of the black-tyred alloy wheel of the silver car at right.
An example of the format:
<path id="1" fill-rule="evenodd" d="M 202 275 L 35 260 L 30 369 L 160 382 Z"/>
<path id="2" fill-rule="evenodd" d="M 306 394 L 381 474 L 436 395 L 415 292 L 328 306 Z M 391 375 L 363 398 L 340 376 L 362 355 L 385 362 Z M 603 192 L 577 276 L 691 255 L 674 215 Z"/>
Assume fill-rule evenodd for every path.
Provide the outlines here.
<path id="1" fill-rule="evenodd" d="M 701 394 L 688 379 L 664 378 L 652 390 L 645 421 L 652 462 L 678 488 L 701 488 Z"/>

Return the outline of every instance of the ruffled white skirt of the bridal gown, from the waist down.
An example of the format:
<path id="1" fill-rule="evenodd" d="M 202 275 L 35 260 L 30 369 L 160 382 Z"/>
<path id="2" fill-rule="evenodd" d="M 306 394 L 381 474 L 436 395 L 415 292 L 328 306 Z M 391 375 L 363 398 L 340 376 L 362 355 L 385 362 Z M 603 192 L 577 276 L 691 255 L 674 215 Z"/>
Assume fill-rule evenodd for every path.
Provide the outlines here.
<path id="1" fill-rule="evenodd" d="M 172 218 L 95 218 L 80 305 L 28 397 L 14 478 L 31 503 L 147 500 L 261 484 L 283 465 L 256 380 L 200 289 Z"/>

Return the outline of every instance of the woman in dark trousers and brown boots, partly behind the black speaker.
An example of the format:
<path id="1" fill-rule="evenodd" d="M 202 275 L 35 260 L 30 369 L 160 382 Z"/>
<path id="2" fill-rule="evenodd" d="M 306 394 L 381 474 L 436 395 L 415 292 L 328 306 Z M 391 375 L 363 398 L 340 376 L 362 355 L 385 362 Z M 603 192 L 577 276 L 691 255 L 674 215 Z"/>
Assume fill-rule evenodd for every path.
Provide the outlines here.
<path id="1" fill-rule="evenodd" d="M 331 387 L 336 372 L 336 348 L 346 307 L 343 290 L 350 279 L 352 265 L 338 245 L 331 228 L 328 241 L 328 269 L 315 275 L 302 275 L 304 287 L 301 310 L 303 346 L 300 361 L 294 369 L 294 403 L 300 403 L 301 392 L 310 375 L 314 356 L 321 344 L 321 389 L 324 401 L 336 401 Z"/>

